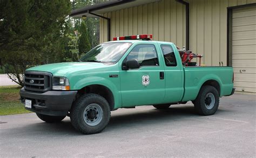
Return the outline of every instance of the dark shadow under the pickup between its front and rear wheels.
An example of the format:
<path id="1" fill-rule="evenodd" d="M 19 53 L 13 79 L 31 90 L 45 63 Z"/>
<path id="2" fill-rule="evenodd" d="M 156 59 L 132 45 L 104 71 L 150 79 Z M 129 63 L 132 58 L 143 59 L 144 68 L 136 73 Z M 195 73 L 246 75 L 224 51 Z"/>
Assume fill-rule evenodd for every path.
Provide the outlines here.
<path id="1" fill-rule="evenodd" d="M 219 109 L 215 114 L 221 114 L 227 112 L 226 110 Z M 107 131 L 117 130 L 120 126 L 125 128 L 136 128 L 143 126 L 152 126 L 156 124 L 169 124 L 182 123 L 188 120 L 202 120 L 203 117 L 194 111 L 194 106 L 176 106 L 170 107 L 169 109 L 148 109 L 143 111 L 129 112 L 129 113 L 118 113 L 111 116 L 110 123 L 107 126 Z"/>

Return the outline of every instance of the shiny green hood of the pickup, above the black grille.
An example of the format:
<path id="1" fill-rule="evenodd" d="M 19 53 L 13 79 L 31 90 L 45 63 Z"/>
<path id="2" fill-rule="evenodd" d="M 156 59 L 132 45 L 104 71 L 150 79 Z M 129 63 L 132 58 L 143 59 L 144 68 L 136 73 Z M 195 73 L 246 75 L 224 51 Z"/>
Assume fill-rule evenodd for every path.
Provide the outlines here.
<path id="1" fill-rule="evenodd" d="M 65 76 L 72 71 L 89 70 L 94 68 L 105 67 L 106 65 L 98 62 L 62 62 L 44 64 L 27 69 L 28 71 L 45 71 L 52 73 L 53 76 Z"/>

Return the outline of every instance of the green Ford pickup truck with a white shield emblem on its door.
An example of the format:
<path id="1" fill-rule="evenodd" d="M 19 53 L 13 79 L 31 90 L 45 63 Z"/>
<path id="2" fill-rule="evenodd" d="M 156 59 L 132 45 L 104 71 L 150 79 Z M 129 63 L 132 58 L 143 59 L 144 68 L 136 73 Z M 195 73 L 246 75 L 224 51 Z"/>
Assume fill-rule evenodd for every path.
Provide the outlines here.
<path id="1" fill-rule="evenodd" d="M 105 42 L 79 62 L 29 68 L 20 91 L 25 109 L 48 123 L 69 116 L 84 134 L 103 131 L 119 108 L 167 109 L 191 100 L 207 116 L 219 97 L 233 93 L 232 67 L 184 66 L 176 45 L 145 39 Z"/>

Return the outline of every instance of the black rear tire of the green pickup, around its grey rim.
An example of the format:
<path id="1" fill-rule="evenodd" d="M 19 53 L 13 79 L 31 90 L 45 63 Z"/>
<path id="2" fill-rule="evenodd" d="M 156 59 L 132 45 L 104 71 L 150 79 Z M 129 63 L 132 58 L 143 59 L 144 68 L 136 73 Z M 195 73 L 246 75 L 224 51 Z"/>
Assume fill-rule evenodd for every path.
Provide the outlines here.
<path id="1" fill-rule="evenodd" d="M 207 109 L 206 107 L 206 95 L 208 94 L 212 94 L 214 96 L 214 104 L 212 104 L 213 106 L 211 107 L 211 109 Z M 212 115 L 218 110 L 219 107 L 219 93 L 217 89 L 215 89 L 211 85 L 204 85 L 200 89 L 197 98 L 193 100 L 193 102 L 194 108 L 198 114 L 204 116 Z M 211 102 L 213 102 L 213 100 L 211 100 Z"/>

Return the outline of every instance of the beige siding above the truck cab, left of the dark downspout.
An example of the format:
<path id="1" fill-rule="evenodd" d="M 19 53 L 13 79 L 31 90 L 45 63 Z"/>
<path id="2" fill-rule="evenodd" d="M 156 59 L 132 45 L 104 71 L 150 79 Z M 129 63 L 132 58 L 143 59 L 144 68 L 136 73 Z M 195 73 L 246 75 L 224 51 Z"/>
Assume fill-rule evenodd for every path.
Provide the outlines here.
<path id="1" fill-rule="evenodd" d="M 185 45 L 185 6 L 175 0 L 139 5 L 105 13 L 111 18 L 111 39 L 123 35 L 153 34 L 153 40 Z M 100 19 L 100 42 L 107 41 L 107 21 Z"/>

